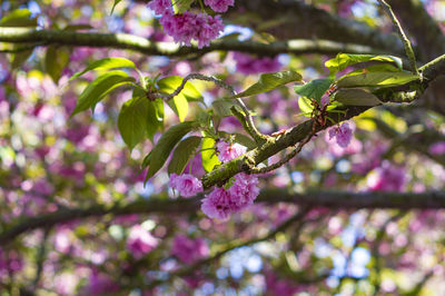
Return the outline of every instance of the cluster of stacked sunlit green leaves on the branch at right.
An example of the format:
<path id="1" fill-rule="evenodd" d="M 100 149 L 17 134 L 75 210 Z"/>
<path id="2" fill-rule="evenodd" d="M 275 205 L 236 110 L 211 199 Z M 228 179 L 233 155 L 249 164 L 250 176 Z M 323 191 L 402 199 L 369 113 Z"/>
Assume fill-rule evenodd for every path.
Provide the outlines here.
<path id="1" fill-rule="evenodd" d="M 301 96 L 298 100 L 304 116 L 313 117 L 316 107 L 322 106 L 326 93 L 328 112 L 336 112 L 347 106 L 377 106 L 384 103 L 376 95 L 378 90 L 403 86 L 419 77 L 403 69 L 402 60 L 393 56 L 339 53 L 325 62 L 329 76 L 315 79 L 304 86 L 296 86 Z M 350 68 L 345 75 L 342 75 Z"/>

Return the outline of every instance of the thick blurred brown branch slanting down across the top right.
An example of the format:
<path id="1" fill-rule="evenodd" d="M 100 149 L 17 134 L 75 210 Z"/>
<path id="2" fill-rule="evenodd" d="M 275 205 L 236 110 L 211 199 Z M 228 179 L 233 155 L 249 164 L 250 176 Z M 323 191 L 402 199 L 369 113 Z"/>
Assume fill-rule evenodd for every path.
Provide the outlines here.
<path id="1" fill-rule="evenodd" d="M 237 8 L 255 12 L 249 26 L 255 31 L 261 31 L 265 19 L 281 20 L 278 24 L 263 29 L 280 39 L 326 39 L 338 42 L 354 42 L 404 55 L 404 46 L 396 36 L 383 33 L 364 22 L 334 16 L 326 10 L 295 0 L 239 0 Z M 235 17 L 239 10 L 233 10 Z M 236 20 L 236 19 L 235 19 Z"/>

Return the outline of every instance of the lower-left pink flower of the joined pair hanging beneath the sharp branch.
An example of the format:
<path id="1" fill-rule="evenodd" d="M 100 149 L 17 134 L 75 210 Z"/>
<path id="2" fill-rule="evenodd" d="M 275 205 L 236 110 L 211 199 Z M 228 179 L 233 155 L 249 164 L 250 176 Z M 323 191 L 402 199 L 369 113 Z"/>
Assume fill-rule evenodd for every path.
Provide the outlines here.
<path id="1" fill-rule="evenodd" d="M 226 189 L 217 187 L 202 199 L 201 210 L 209 218 L 225 220 L 231 213 L 238 210 L 238 206 Z"/>

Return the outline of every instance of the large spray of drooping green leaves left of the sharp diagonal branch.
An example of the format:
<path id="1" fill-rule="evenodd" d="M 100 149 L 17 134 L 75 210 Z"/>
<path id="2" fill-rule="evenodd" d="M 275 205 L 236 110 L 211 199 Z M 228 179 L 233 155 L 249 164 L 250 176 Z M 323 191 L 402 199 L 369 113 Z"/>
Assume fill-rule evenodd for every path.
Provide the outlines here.
<path id="1" fill-rule="evenodd" d="M 116 70 L 118 68 L 135 70 L 139 73 L 139 81 L 127 71 Z M 220 120 L 224 117 L 233 116 L 231 108 L 235 106 L 235 99 L 256 96 L 288 82 L 301 80 L 301 76 L 296 71 L 265 73 L 245 91 L 217 99 L 207 108 L 201 93 L 190 81 L 185 83 L 178 95 L 171 99 L 165 99 L 181 86 L 184 79 L 178 76 L 162 79 L 145 77 L 132 61 L 123 58 L 106 58 L 95 61 L 85 70 L 75 73 L 70 80 L 92 70 L 99 71 L 100 75 L 79 96 L 71 116 L 88 109 L 93 111 L 96 105 L 118 87 L 131 88 L 132 98 L 123 103 L 118 117 L 120 135 L 130 149 L 146 138 L 154 141 L 155 134 L 164 130 L 165 103 L 178 116 L 180 122 L 164 131 L 150 154 L 145 158 L 142 167 L 149 167 L 146 179 L 159 171 L 171 151 L 174 155 L 168 166 L 168 172 L 181 174 L 197 151 L 201 151 L 202 167 L 206 171 L 210 171 L 219 165 L 215 155 L 215 144 L 218 139 L 231 138 L 234 141 L 254 148 L 255 141 L 248 136 L 227 135 L 218 130 Z M 195 120 L 186 121 L 190 102 L 200 103 L 196 106 L 199 112 Z M 194 131 L 200 132 L 201 136 L 194 135 L 184 139 L 187 134 Z M 198 150 L 198 148 L 200 149 Z"/>

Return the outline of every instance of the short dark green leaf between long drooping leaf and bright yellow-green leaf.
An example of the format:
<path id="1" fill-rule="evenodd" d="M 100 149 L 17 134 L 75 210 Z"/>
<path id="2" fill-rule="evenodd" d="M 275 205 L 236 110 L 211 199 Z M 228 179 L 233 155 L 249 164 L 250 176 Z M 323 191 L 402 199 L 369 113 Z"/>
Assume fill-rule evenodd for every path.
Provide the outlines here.
<path id="1" fill-rule="evenodd" d="M 196 149 L 201 144 L 201 137 L 191 136 L 181 140 L 174 151 L 170 164 L 168 165 L 168 174 L 180 175 L 186 168 L 188 161 L 195 156 Z"/>

